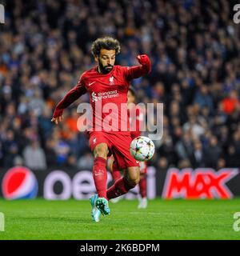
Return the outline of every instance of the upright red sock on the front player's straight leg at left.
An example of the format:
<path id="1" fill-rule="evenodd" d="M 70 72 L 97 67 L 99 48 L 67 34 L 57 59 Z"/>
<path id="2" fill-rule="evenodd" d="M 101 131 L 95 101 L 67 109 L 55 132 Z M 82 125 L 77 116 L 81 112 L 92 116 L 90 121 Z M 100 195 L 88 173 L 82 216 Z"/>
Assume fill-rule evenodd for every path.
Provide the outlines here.
<path id="1" fill-rule="evenodd" d="M 98 192 L 99 198 L 106 198 L 106 159 L 97 157 L 94 158 L 93 169 L 94 183 Z"/>

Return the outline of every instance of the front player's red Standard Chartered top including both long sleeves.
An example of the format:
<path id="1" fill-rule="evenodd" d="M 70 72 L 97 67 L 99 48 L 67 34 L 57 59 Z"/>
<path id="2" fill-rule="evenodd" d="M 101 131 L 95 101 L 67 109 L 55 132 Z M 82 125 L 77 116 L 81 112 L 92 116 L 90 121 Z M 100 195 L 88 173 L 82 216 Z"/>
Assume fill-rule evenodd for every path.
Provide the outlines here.
<path id="1" fill-rule="evenodd" d="M 150 63 L 139 66 L 114 66 L 108 74 L 99 74 L 97 67 L 87 70 L 78 84 L 58 103 L 54 118 L 82 94 L 90 94 L 92 118 L 88 130 L 129 133 L 127 91 L 130 81 L 150 72 Z M 114 103 L 114 104 L 113 104 Z"/>

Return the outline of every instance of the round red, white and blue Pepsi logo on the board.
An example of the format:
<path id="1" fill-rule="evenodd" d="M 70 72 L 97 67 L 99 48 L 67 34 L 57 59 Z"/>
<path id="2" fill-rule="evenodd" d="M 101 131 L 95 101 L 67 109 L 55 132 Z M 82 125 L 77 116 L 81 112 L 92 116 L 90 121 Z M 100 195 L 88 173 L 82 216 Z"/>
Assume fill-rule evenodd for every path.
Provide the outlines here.
<path id="1" fill-rule="evenodd" d="M 28 168 L 13 167 L 2 179 L 2 194 L 6 199 L 35 198 L 38 194 L 38 181 Z"/>

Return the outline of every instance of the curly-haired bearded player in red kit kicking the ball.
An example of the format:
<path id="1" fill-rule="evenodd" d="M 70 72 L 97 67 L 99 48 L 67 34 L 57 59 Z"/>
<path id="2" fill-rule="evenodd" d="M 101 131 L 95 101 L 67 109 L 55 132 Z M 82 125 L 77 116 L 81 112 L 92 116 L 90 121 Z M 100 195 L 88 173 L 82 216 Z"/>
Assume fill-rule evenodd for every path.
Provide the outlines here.
<path id="1" fill-rule="evenodd" d="M 126 105 L 127 91 L 130 81 L 150 73 L 151 63 L 146 54 L 138 55 L 138 66 L 114 66 L 116 54 L 120 53 L 118 40 L 110 37 L 98 38 L 93 42 L 92 54 L 97 66 L 87 70 L 80 77 L 78 84 L 58 102 L 54 110 L 52 122 L 58 124 L 63 120 L 63 110 L 70 106 L 82 94 L 90 94 L 90 105 L 93 110 L 92 129 L 89 130 L 90 149 L 94 154 L 93 177 L 98 194 L 90 198 L 94 222 L 99 221 L 100 212 L 110 214 L 108 200 L 126 194 L 139 182 L 139 164 L 130 154 L 130 131 L 122 129 L 128 122 L 126 114 L 122 113 L 122 104 Z M 99 102 L 101 103 L 99 105 Z M 106 104 L 114 107 L 111 114 L 113 129 L 106 129 L 106 119 L 109 113 L 99 114 Z M 123 124 L 123 125 L 122 125 Z M 124 126 L 126 127 L 126 126 Z M 106 190 L 106 158 L 114 155 L 118 170 L 125 170 L 124 176 L 118 179 Z"/>

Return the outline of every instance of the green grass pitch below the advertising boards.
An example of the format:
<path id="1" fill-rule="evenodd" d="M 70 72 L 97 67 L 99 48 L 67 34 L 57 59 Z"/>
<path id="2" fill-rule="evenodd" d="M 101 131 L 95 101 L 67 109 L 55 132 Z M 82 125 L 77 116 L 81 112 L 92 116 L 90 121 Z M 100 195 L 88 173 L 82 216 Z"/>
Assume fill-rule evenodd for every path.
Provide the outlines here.
<path id="1" fill-rule="evenodd" d="M 150 200 L 110 202 L 111 214 L 98 223 L 90 218 L 90 202 L 0 199 L 5 231 L 0 240 L 18 239 L 240 239 L 233 229 L 240 198 L 232 200 Z"/>

